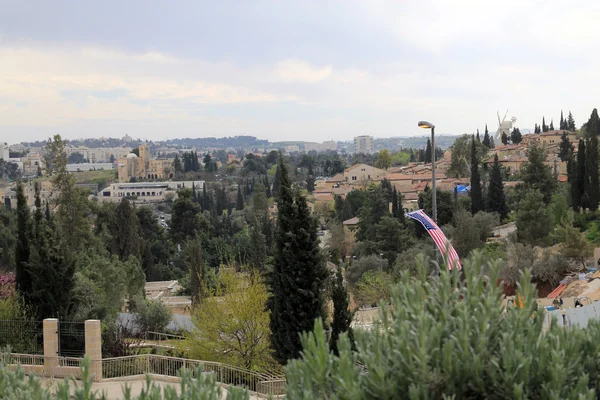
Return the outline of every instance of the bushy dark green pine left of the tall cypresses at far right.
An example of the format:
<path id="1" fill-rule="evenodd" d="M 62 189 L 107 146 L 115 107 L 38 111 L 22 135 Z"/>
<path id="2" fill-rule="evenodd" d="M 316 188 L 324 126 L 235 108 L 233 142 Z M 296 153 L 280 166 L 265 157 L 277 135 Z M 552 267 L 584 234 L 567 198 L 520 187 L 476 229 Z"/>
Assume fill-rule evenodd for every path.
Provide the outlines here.
<path id="1" fill-rule="evenodd" d="M 556 180 L 552 176 L 551 168 L 545 164 L 546 150 L 537 142 L 533 142 L 527 149 L 527 162 L 521 169 L 521 176 L 526 187 L 539 190 L 544 196 L 544 202 L 550 203 L 556 187 Z"/>

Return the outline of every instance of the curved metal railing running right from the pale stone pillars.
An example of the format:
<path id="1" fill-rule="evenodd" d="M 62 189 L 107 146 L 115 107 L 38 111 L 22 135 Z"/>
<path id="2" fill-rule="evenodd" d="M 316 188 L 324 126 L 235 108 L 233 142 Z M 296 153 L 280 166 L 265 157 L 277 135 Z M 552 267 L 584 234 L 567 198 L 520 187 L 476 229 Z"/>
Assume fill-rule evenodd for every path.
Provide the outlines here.
<path id="1" fill-rule="evenodd" d="M 179 371 L 184 368 L 191 371 L 201 369 L 201 372 L 212 372 L 219 383 L 242 386 L 260 395 L 278 396 L 285 393 L 283 376 L 249 371 L 217 362 L 156 354 L 105 358 L 102 360 L 102 377 L 110 379 L 146 374 L 178 377 Z"/>

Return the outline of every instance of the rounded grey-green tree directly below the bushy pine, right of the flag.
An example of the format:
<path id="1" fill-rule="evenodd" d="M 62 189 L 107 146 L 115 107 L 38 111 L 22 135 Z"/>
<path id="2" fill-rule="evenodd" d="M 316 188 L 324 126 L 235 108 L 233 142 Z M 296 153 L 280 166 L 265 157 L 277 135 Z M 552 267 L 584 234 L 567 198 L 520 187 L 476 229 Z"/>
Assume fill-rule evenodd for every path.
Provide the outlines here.
<path id="1" fill-rule="evenodd" d="M 552 215 L 539 191 L 529 191 L 517 210 L 517 236 L 522 243 L 532 246 L 546 243 L 552 229 Z"/>

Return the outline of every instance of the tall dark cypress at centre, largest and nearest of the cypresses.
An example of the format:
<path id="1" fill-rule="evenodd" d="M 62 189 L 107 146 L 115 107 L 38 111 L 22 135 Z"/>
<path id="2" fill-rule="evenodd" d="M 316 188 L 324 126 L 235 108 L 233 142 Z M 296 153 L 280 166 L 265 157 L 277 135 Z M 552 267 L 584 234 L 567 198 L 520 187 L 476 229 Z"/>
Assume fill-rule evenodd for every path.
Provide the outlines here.
<path id="1" fill-rule="evenodd" d="M 317 223 L 306 199 L 294 194 L 283 157 L 279 158 L 278 225 L 270 274 L 271 342 L 281 364 L 302 350 L 300 333 L 310 332 L 323 318 L 323 288 L 327 278 L 319 250 Z"/>

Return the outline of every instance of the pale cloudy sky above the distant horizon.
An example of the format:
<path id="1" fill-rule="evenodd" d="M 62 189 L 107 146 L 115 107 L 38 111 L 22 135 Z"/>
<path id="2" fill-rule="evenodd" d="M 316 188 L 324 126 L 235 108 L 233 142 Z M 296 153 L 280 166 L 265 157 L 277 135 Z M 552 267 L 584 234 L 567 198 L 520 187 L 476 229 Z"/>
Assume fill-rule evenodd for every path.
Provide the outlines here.
<path id="1" fill-rule="evenodd" d="M 490 131 L 600 105 L 600 2 L 0 0 L 0 141 Z"/>

